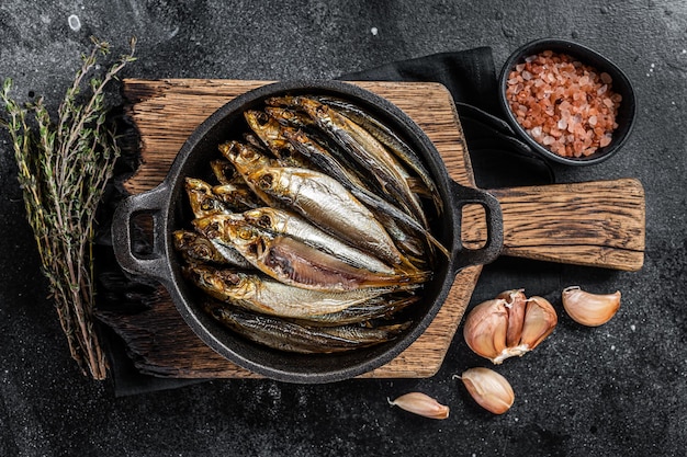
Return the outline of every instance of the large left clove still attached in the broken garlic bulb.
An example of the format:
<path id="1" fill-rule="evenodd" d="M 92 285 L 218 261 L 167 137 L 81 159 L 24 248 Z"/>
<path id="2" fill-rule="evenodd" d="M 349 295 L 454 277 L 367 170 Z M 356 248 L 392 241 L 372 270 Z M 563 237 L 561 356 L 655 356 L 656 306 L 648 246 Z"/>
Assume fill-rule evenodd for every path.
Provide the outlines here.
<path id="1" fill-rule="evenodd" d="M 503 298 L 481 302 L 470 311 L 463 327 L 463 338 L 470 349 L 492 362 L 506 349 L 508 310 L 505 305 Z"/>

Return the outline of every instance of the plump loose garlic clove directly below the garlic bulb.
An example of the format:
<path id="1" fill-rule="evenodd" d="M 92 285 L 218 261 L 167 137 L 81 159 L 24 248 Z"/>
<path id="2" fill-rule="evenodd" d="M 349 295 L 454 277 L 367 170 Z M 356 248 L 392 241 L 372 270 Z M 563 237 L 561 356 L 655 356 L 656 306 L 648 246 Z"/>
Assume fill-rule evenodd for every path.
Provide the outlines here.
<path id="1" fill-rule="evenodd" d="M 454 377 L 463 381 L 477 404 L 494 414 L 505 413 L 515 401 L 515 392 L 508 380 L 493 369 L 470 368 Z"/>

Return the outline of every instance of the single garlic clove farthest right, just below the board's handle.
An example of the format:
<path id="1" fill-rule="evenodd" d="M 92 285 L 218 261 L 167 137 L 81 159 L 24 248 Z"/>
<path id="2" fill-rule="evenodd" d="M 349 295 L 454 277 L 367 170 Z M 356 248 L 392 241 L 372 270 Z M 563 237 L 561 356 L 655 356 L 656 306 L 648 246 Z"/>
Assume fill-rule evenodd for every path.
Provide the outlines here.
<path id="1" fill-rule="evenodd" d="M 579 286 L 563 289 L 565 312 L 577 323 L 599 327 L 611 320 L 620 309 L 620 290 L 613 294 L 592 294 Z"/>

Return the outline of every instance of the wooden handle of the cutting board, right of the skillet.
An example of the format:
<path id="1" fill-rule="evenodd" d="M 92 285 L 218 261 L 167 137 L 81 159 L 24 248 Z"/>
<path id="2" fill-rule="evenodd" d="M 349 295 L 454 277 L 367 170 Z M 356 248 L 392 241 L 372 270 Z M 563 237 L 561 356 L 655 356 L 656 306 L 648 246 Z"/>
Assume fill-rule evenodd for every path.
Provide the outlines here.
<path id="1" fill-rule="evenodd" d="M 638 271 L 644 262 L 644 188 L 620 179 L 488 191 L 502 207 L 503 255 Z M 486 240 L 478 208 L 463 210 L 463 243 Z"/>

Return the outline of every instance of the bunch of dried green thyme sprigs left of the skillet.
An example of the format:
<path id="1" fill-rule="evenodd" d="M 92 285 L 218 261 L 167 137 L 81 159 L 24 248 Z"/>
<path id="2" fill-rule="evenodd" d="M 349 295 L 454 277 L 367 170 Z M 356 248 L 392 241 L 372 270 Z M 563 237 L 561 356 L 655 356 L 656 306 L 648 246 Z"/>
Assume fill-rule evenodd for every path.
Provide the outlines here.
<path id="1" fill-rule="evenodd" d="M 120 156 L 114 132 L 105 122 L 104 89 L 135 60 L 136 41 L 132 38 L 131 53 L 122 55 L 104 76 L 92 76 L 87 82 L 99 68 L 99 57 L 110 54 L 106 42 L 92 42 L 91 53 L 81 56 L 81 68 L 65 93 L 56 122 L 42 98 L 24 105 L 12 100 L 11 79 L 5 79 L 0 99 L 8 113 L 2 124 L 12 139 L 26 217 L 69 351 L 85 374 L 104 379 L 106 361 L 93 325 L 93 237 L 95 209 Z M 80 98 L 83 85 L 90 89 L 85 101 Z"/>

